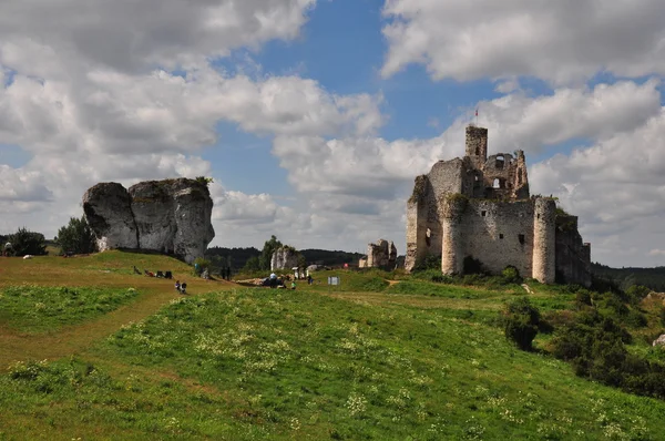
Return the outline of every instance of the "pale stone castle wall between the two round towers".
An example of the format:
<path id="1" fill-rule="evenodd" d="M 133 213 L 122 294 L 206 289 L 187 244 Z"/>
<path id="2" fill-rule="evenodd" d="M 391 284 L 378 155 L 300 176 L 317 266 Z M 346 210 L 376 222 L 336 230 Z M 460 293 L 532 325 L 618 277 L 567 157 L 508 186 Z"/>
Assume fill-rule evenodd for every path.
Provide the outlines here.
<path id="1" fill-rule="evenodd" d="M 532 275 L 533 202 L 469 201 L 463 216 L 464 257 L 479 259 L 493 274 L 513 265 Z"/>

